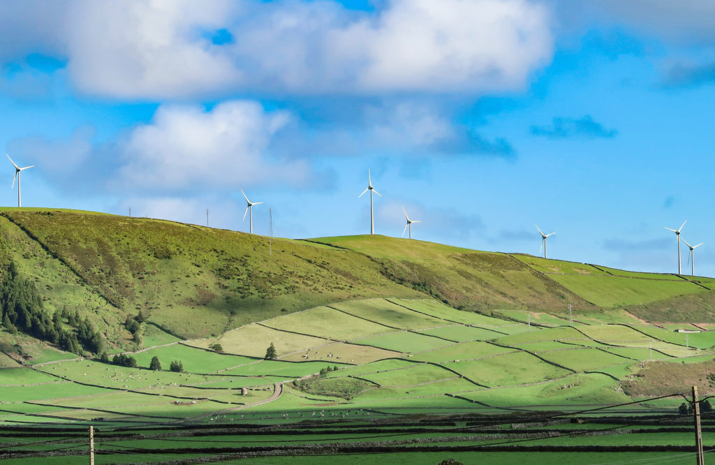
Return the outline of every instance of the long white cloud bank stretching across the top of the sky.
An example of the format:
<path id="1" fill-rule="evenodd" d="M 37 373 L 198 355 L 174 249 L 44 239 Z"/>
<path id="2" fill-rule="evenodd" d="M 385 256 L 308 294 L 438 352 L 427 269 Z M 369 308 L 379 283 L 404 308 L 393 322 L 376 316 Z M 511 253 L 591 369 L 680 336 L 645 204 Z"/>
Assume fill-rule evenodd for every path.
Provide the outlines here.
<path id="1" fill-rule="evenodd" d="M 0 5 L 0 17 L 30 24 L 11 29 L 24 44 L 14 53 L 66 56 L 80 92 L 119 99 L 519 89 L 552 54 L 551 19 L 531 0 L 390 0 L 374 12 L 307 0 L 48 3 L 49 14 L 39 0 Z M 233 40 L 213 44 L 220 29 Z"/>

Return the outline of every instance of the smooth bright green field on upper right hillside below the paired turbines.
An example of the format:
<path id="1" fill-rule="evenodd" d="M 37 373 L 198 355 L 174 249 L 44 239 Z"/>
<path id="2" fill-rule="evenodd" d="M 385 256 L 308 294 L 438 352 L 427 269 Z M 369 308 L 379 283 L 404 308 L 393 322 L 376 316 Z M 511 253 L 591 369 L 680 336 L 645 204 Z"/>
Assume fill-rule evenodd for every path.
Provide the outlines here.
<path id="1" fill-rule="evenodd" d="M 599 307 L 654 302 L 676 295 L 707 292 L 684 280 L 631 279 L 622 276 L 550 275 L 551 279 Z"/>

